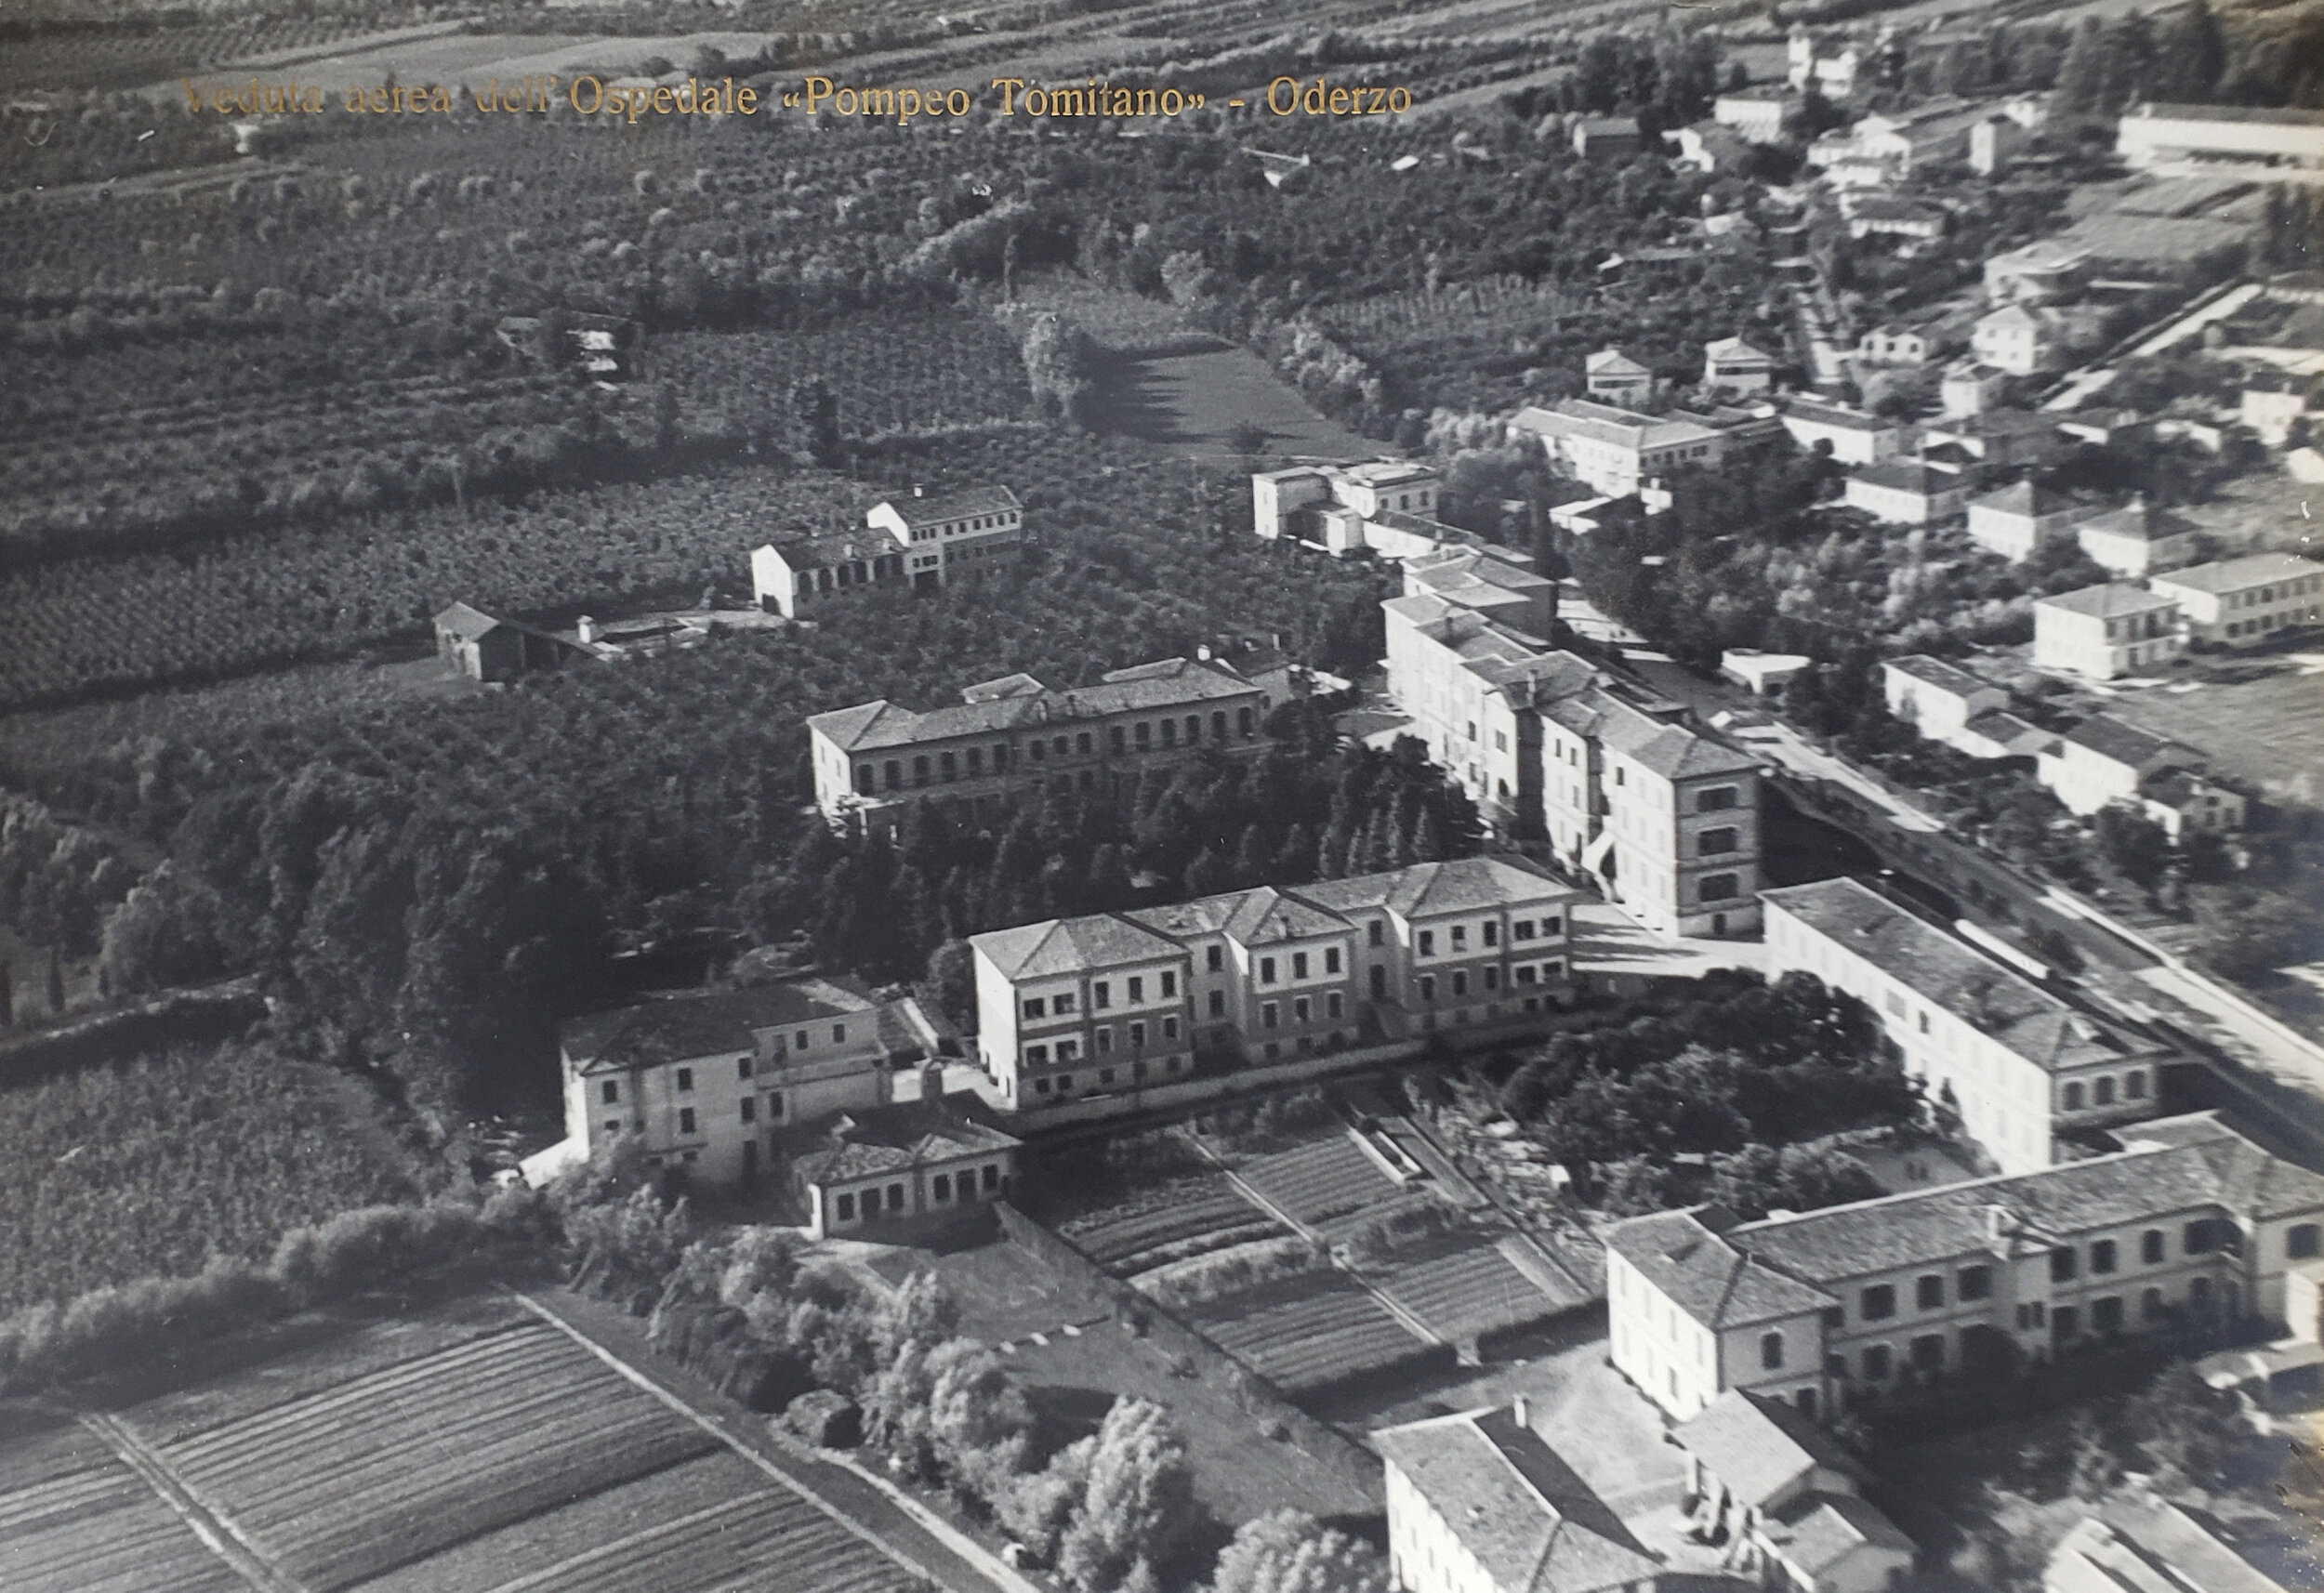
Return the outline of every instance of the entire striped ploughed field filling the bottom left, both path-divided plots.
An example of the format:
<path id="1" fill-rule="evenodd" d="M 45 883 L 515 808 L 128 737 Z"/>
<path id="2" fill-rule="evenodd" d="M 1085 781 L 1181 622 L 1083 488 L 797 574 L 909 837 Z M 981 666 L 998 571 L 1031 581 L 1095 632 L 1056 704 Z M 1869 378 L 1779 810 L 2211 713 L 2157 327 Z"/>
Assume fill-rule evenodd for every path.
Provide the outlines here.
<path id="1" fill-rule="evenodd" d="M 193 1535 L 167 1530 L 144 1479 L 107 1475 L 109 1454 L 316 1593 L 920 1584 L 514 1303 L 367 1328 L 95 1426 L 109 1442 L 0 1444 L 0 1565 L 56 1565 L 40 1586 L 239 1586 L 184 1551 Z M 44 1482 L 16 1484 L 28 1475 Z"/>

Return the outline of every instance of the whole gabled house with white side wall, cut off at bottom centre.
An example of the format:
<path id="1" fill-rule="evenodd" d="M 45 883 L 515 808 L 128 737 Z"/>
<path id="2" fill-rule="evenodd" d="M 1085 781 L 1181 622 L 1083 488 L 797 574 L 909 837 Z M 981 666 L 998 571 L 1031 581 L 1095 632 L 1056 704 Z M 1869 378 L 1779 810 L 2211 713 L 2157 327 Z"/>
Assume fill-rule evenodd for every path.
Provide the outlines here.
<path id="1" fill-rule="evenodd" d="M 1399 1593 L 1655 1593 L 1662 1563 L 1513 1407 L 1371 1435 Z"/>

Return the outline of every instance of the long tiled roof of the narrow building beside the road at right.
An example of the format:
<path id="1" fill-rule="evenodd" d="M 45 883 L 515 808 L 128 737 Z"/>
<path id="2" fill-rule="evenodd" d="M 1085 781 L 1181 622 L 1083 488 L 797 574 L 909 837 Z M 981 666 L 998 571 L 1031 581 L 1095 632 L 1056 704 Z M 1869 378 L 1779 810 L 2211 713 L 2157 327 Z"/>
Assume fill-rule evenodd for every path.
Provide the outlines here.
<path id="1" fill-rule="evenodd" d="M 1855 952 L 1931 1005 L 1966 1019 L 1978 1033 L 2045 1071 L 2059 1073 L 2157 1052 L 1859 880 L 1787 885 L 1762 892 L 1759 901 Z"/>

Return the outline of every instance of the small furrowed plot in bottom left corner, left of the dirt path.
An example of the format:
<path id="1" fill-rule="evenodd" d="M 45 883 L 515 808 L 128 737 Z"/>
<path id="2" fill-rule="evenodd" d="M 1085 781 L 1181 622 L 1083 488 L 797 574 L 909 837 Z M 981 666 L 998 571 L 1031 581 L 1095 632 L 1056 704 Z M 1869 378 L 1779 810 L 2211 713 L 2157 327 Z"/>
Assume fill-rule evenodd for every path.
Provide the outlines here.
<path id="1" fill-rule="evenodd" d="M 242 1593 L 228 1570 L 93 1433 L 0 1449 L 0 1584 L 53 1593 Z"/>

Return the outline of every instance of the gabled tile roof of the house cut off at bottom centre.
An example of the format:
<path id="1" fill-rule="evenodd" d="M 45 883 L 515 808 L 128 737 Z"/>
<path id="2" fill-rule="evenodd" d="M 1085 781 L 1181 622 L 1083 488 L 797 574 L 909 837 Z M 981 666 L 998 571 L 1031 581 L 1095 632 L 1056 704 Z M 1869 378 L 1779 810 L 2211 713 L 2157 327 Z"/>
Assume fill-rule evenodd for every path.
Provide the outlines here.
<path id="1" fill-rule="evenodd" d="M 1662 1572 L 1571 1465 L 1506 1410 L 1380 1428 L 1380 1456 L 1508 1593 L 1611 1593 Z"/>

